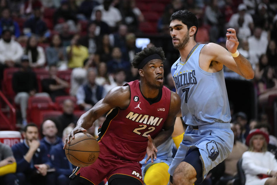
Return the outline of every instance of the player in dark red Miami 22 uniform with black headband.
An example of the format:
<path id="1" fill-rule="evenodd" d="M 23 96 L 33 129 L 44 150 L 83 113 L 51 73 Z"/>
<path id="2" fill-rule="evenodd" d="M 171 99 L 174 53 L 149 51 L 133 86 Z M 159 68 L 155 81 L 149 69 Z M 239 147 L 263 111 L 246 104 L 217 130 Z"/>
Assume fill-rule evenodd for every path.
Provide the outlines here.
<path id="1" fill-rule="evenodd" d="M 171 136 L 181 106 L 179 96 L 163 86 L 164 60 L 162 48 L 137 53 L 132 65 L 139 69 L 140 80 L 113 88 L 80 117 L 64 146 L 109 111 L 100 128 L 98 159 L 90 166 L 76 168 L 70 185 L 98 185 L 105 178 L 109 185 L 143 184 L 139 161 L 145 151 L 146 160 L 156 159 L 156 147 Z"/>

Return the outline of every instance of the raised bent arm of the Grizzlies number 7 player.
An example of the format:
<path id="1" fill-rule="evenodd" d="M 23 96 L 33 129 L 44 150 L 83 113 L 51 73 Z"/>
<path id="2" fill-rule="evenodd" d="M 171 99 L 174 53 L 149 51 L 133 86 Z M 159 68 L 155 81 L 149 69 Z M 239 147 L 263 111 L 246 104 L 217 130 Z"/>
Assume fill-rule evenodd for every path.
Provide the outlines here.
<path id="1" fill-rule="evenodd" d="M 210 55 L 211 60 L 220 62 L 246 79 L 254 78 L 254 70 L 251 63 L 242 54 L 239 54 L 237 57 L 231 55 L 231 53 L 236 53 L 239 42 L 235 29 L 229 28 L 227 31 L 226 48 L 228 51 L 218 44 L 209 43 L 203 48 L 203 53 Z"/>

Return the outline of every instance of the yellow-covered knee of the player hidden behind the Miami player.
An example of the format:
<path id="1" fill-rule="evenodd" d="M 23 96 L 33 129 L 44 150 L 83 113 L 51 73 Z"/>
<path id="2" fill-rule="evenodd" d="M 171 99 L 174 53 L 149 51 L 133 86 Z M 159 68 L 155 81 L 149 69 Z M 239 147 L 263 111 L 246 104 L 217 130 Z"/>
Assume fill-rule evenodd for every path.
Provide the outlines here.
<path id="1" fill-rule="evenodd" d="M 145 175 L 144 175 L 144 183 L 146 185 L 166 185 L 169 182 L 169 166 L 164 163 L 157 163 L 150 166 Z"/>

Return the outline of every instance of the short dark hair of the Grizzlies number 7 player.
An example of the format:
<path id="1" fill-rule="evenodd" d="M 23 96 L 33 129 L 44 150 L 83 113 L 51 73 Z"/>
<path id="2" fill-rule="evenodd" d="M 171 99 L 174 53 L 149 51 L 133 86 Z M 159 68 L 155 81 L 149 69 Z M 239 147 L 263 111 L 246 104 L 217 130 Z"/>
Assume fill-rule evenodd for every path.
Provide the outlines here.
<path id="1" fill-rule="evenodd" d="M 198 31 L 198 20 L 197 17 L 188 10 L 179 10 L 177 12 L 174 12 L 170 17 L 170 22 L 173 20 L 182 21 L 183 24 L 187 25 L 188 29 L 190 27 L 195 26 L 196 32 L 194 34 L 194 39 L 196 37 L 197 31 Z"/>

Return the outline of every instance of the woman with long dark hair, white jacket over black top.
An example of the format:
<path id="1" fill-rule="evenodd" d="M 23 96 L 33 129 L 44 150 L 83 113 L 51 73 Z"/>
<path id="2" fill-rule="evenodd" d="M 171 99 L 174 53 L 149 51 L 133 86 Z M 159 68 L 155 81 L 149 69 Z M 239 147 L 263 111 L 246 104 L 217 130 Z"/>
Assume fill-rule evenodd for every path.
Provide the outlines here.
<path id="1" fill-rule="evenodd" d="M 42 67 L 45 64 L 44 49 L 38 46 L 38 38 L 31 36 L 26 45 L 25 54 L 29 57 L 29 63 L 32 68 Z"/>

